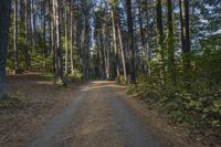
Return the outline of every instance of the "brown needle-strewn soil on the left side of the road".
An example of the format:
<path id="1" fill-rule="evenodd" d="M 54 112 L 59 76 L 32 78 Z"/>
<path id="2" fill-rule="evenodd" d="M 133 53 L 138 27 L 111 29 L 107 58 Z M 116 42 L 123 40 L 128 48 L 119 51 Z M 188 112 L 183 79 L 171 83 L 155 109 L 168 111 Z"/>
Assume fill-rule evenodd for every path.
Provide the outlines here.
<path id="1" fill-rule="evenodd" d="M 0 146 L 22 147 L 30 136 L 73 98 L 81 84 L 64 88 L 41 80 L 39 73 L 7 75 L 8 94 L 15 97 L 21 91 L 25 98 L 22 108 L 0 109 Z"/>

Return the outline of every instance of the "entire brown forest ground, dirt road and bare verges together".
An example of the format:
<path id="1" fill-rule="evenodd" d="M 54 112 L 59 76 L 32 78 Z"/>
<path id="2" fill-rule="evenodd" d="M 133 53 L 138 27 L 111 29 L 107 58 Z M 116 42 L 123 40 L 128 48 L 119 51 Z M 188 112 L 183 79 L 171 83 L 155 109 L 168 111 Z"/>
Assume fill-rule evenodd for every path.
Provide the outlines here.
<path id="1" fill-rule="evenodd" d="M 38 73 L 8 75 L 20 107 L 0 107 L 2 147 L 203 146 L 109 81 L 55 86 Z"/>

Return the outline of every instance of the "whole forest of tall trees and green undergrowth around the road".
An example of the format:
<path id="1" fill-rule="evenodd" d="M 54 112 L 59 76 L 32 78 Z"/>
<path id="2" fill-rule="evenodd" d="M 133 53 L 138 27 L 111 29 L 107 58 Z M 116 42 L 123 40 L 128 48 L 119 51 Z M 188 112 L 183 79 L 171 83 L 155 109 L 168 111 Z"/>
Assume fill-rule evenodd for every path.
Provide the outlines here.
<path id="1" fill-rule="evenodd" d="M 62 87 L 115 81 L 218 144 L 221 1 L 0 0 L 0 112 L 13 107 L 8 76 L 27 73 Z"/>

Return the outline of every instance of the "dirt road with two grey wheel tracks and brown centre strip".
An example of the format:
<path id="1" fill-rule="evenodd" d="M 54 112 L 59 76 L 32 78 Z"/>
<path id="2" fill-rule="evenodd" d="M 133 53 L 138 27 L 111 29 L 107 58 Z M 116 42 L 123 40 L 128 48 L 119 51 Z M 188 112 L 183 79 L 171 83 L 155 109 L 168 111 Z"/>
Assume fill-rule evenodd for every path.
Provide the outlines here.
<path id="1" fill-rule="evenodd" d="M 76 98 L 31 137 L 30 147 L 167 146 L 127 103 L 113 82 L 85 84 Z"/>

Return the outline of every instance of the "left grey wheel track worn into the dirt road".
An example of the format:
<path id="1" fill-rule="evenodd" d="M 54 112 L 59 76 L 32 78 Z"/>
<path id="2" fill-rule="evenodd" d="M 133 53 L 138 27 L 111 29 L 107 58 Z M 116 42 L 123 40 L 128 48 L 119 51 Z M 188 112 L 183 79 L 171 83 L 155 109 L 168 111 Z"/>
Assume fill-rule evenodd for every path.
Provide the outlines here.
<path id="1" fill-rule="evenodd" d="M 67 107 L 65 107 L 59 115 L 54 116 L 49 124 L 43 126 L 28 146 L 54 147 L 60 140 L 61 134 L 72 125 L 75 114 L 86 101 L 87 93 L 85 93 L 85 90 L 87 87 L 88 86 L 82 88 L 76 98 Z"/>

